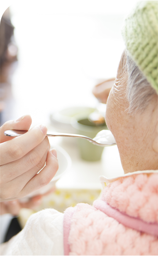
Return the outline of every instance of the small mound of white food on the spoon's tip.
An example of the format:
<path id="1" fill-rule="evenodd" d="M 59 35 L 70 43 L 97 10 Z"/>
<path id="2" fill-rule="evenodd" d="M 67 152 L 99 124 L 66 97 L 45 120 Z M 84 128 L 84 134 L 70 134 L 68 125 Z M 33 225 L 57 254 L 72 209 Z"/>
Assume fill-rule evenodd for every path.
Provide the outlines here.
<path id="1" fill-rule="evenodd" d="M 93 140 L 103 145 L 104 144 L 110 145 L 110 144 L 116 143 L 114 136 L 112 135 L 110 130 L 101 130 L 99 133 L 97 133 L 97 135 L 95 136 L 95 138 L 93 138 Z"/>

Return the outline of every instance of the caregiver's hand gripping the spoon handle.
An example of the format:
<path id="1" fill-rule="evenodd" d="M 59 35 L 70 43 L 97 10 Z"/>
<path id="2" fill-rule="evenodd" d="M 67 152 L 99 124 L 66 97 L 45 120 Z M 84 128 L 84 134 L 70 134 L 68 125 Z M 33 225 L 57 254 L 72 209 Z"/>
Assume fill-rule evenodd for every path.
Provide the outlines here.
<path id="1" fill-rule="evenodd" d="M 56 150 L 49 150 L 47 128 L 29 130 L 31 123 L 30 116 L 23 116 L 0 127 L 0 202 L 22 198 L 43 187 L 58 170 Z M 16 138 L 4 135 L 5 130 L 12 129 L 29 131 Z"/>

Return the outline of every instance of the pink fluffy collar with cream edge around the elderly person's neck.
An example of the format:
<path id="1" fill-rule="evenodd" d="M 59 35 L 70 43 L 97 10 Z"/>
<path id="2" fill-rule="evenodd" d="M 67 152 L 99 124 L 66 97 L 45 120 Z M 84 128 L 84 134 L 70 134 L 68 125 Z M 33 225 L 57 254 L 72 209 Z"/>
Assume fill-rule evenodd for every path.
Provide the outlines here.
<path id="1" fill-rule="evenodd" d="M 133 172 L 107 179 L 101 199 L 111 207 L 148 223 L 158 223 L 158 171 Z"/>

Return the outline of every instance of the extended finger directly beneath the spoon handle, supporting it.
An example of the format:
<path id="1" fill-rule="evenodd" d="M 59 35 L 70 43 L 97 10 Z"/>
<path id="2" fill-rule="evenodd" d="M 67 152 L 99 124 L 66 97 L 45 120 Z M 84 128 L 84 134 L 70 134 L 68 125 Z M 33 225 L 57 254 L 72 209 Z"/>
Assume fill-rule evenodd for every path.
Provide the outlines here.
<path id="1" fill-rule="evenodd" d="M 23 135 L 1 143 L 0 155 L 3 157 L 0 158 L 0 165 L 22 158 L 44 140 L 46 133 L 46 126 L 35 126 Z"/>

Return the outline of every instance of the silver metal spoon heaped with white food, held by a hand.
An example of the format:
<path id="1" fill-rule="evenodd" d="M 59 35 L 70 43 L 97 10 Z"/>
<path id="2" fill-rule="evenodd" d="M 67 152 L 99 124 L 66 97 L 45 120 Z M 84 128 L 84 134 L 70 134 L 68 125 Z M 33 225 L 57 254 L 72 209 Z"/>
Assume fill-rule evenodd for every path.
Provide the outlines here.
<path id="1" fill-rule="evenodd" d="M 27 130 L 6 130 L 4 132 L 4 135 L 10 136 L 10 137 L 17 137 L 24 133 L 27 133 Z M 52 134 L 46 134 L 46 136 L 51 136 L 51 137 L 63 136 L 63 137 L 82 138 L 85 140 L 89 140 L 91 143 L 98 145 L 100 147 L 116 145 L 114 136 L 112 135 L 110 130 L 101 130 L 99 133 L 97 133 L 97 135 L 93 139 L 80 134 L 56 133 L 56 132 L 53 132 Z"/>

